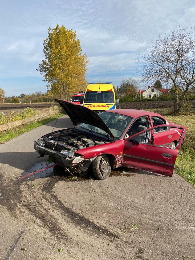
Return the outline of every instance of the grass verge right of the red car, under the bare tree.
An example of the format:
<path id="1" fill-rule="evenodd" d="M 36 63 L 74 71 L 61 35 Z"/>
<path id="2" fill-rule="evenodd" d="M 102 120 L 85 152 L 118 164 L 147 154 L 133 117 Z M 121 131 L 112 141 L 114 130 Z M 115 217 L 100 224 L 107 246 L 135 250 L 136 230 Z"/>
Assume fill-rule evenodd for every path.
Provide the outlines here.
<path id="1" fill-rule="evenodd" d="M 153 109 L 171 122 L 187 127 L 184 144 L 180 147 L 175 163 L 175 172 L 189 183 L 195 185 L 195 114 L 171 115 L 167 109 Z M 195 186 L 194 186 L 195 187 Z"/>

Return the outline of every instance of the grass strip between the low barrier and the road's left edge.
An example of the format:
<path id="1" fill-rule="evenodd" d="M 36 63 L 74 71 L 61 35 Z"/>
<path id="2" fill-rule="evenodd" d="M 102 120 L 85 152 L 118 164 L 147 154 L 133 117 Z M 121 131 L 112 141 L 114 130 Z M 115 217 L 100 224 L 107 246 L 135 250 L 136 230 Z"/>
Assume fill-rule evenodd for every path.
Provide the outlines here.
<path id="1" fill-rule="evenodd" d="M 64 113 L 61 113 L 59 117 L 61 117 L 63 115 L 64 115 Z M 34 128 L 45 125 L 45 124 L 53 121 L 54 119 L 57 119 L 57 117 L 58 117 L 58 114 L 50 116 L 50 117 L 45 118 L 40 121 L 37 121 L 37 120 L 32 121 L 32 122 L 26 123 L 24 125 L 21 125 L 21 126 L 15 127 L 15 128 L 11 128 L 6 131 L 2 131 L 2 132 L 0 132 L 0 144 L 4 143 L 6 141 L 9 141 L 10 139 L 15 138 L 18 135 L 29 132 L 30 130 L 32 130 Z"/>

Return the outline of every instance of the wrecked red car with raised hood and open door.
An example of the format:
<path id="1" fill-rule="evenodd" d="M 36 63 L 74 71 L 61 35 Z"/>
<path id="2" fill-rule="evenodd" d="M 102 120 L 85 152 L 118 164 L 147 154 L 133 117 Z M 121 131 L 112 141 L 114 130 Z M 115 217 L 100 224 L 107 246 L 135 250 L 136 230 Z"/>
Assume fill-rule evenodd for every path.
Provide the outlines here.
<path id="1" fill-rule="evenodd" d="M 90 167 L 98 180 L 106 179 L 112 168 L 120 166 L 172 177 L 186 127 L 153 112 L 115 109 L 96 114 L 69 101 L 56 101 L 74 127 L 35 141 L 41 157 L 49 155 L 73 174 Z"/>

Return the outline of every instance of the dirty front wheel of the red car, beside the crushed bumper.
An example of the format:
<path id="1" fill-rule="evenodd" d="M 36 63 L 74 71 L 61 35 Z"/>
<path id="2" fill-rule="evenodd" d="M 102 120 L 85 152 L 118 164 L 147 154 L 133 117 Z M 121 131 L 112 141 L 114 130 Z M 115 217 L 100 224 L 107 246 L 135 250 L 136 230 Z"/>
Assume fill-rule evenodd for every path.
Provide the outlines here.
<path id="1" fill-rule="evenodd" d="M 97 180 L 105 180 L 111 172 L 110 160 L 107 155 L 97 156 L 92 161 L 92 171 Z"/>

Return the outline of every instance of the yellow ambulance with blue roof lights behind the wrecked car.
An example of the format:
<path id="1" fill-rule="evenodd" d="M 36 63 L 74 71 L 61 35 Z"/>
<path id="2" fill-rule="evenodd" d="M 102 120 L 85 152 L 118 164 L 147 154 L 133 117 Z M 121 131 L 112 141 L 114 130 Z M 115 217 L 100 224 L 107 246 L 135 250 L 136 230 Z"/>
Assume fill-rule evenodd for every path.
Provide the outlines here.
<path id="1" fill-rule="evenodd" d="M 94 110 L 97 114 L 103 110 L 116 109 L 112 82 L 89 82 L 85 92 L 83 106 Z"/>

